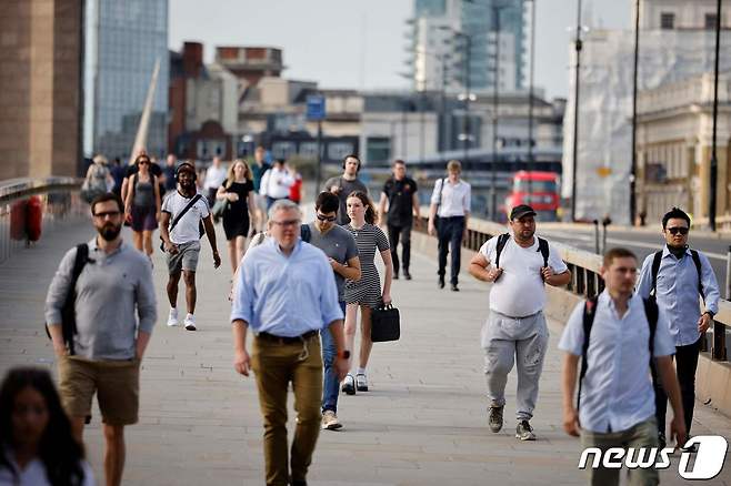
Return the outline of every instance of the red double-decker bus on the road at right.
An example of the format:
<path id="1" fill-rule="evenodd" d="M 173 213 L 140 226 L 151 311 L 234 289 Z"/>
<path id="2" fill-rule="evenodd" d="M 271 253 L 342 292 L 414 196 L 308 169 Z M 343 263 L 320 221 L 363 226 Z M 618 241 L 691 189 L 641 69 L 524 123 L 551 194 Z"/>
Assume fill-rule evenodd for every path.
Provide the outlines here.
<path id="1" fill-rule="evenodd" d="M 505 211 L 510 213 L 517 205 L 528 204 L 538 213 L 538 221 L 558 221 L 560 198 L 555 172 L 518 171 L 512 178 Z"/>

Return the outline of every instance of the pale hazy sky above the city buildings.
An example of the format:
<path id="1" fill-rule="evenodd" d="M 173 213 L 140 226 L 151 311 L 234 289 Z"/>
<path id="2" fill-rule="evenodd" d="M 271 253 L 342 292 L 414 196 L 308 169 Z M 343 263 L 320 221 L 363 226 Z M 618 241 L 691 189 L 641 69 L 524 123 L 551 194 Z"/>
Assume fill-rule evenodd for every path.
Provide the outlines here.
<path id="1" fill-rule="evenodd" d="M 577 0 L 535 0 L 535 85 L 568 94 Z M 632 0 L 582 0 L 583 24 L 630 28 Z M 283 50 L 283 75 L 321 88 L 407 89 L 407 26 L 413 0 L 170 0 L 170 49 L 184 41 Z M 204 10 L 202 9 L 204 8 Z M 574 26 L 574 27 L 572 27 Z"/>

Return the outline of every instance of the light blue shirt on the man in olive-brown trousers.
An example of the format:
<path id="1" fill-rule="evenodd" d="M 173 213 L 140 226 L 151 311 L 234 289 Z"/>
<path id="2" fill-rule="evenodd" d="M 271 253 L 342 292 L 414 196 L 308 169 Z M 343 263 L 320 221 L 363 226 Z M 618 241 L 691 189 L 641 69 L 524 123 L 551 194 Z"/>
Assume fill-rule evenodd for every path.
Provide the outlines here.
<path id="1" fill-rule="evenodd" d="M 236 282 L 232 322 L 294 337 L 341 318 L 336 277 L 321 250 L 300 240 L 287 256 L 273 237 L 249 249 Z"/>

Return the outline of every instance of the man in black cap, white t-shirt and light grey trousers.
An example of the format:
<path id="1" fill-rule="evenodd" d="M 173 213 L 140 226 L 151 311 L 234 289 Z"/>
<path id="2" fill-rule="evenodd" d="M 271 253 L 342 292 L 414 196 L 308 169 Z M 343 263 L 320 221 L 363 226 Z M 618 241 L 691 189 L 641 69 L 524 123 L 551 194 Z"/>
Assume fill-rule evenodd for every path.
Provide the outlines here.
<path id="1" fill-rule="evenodd" d="M 484 374 L 490 398 L 490 429 L 502 428 L 505 384 L 513 360 L 518 367 L 515 437 L 535 441 L 529 421 L 548 348 L 543 316 L 545 284 L 565 285 L 571 273 L 559 252 L 535 234 L 535 211 L 525 204 L 510 213 L 512 234 L 488 240 L 470 262 L 470 274 L 493 283 L 490 315 L 482 326 Z M 500 250 L 500 251 L 499 251 Z"/>

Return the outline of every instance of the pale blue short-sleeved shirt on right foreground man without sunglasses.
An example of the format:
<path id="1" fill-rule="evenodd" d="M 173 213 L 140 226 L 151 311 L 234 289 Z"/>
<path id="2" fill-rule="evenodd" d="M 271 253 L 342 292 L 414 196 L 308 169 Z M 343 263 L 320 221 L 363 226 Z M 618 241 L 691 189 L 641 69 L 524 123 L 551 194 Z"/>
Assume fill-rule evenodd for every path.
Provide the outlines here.
<path id="1" fill-rule="evenodd" d="M 563 330 L 559 350 L 581 356 L 583 310 L 580 302 Z M 599 295 L 587 350 L 588 368 L 581 388 L 581 427 L 592 432 L 622 432 L 654 415 L 650 377 L 650 324 L 642 298 L 633 294 L 619 316 L 607 291 Z M 668 320 L 660 308 L 654 356 L 675 352 Z"/>

